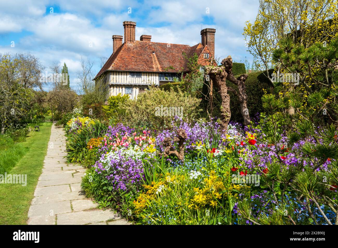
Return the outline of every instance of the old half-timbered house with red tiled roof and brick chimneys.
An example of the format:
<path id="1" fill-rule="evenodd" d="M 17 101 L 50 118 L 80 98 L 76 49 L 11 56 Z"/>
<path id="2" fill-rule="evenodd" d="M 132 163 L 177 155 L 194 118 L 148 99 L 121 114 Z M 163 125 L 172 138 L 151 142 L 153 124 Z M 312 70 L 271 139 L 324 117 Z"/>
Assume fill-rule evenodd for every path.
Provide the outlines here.
<path id="1" fill-rule="evenodd" d="M 129 94 L 137 98 L 149 85 L 162 84 L 179 80 L 187 73 L 187 57 L 196 53 L 198 63 L 216 64 L 214 61 L 215 29 L 201 31 L 202 41 L 195 46 L 151 42 L 151 35 L 141 35 L 135 40 L 136 22 L 123 22 L 123 36 L 113 35 L 113 54 L 108 58 L 95 82 L 103 80 L 106 84 L 107 99 L 111 95 Z"/>

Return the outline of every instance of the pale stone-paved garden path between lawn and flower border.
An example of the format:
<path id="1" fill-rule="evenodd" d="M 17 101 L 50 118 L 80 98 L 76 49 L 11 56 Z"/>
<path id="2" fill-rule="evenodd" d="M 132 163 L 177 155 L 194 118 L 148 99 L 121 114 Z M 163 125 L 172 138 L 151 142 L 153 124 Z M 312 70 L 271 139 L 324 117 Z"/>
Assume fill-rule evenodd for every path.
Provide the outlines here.
<path id="1" fill-rule="evenodd" d="M 110 210 L 99 210 L 81 191 L 86 169 L 67 164 L 66 137 L 52 125 L 47 155 L 28 211 L 29 225 L 128 225 Z"/>

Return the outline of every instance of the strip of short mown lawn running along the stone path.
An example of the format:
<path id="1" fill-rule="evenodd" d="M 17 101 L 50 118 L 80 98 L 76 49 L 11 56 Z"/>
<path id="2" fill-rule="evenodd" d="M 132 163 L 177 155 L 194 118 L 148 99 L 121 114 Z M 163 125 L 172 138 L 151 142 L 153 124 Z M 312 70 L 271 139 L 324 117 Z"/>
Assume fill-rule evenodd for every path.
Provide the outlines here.
<path id="1" fill-rule="evenodd" d="M 43 122 L 40 132 L 30 132 L 25 142 L 19 143 L 25 154 L 7 174 L 27 174 L 27 186 L 0 184 L 0 225 L 25 225 L 34 190 L 47 153 L 52 122 Z"/>

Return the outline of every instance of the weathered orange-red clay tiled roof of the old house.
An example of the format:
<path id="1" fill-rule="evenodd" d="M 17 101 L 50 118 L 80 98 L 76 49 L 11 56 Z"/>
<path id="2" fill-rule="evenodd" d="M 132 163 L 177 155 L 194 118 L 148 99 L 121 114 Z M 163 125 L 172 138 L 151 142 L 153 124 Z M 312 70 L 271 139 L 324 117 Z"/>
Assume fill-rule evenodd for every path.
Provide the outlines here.
<path id="1" fill-rule="evenodd" d="M 187 60 L 184 58 L 183 52 L 191 57 L 195 52 L 199 56 L 202 51 L 203 47 L 200 43 L 193 47 L 140 40 L 124 43 L 110 56 L 95 78 L 107 70 L 134 72 L 187 71 Z"/>

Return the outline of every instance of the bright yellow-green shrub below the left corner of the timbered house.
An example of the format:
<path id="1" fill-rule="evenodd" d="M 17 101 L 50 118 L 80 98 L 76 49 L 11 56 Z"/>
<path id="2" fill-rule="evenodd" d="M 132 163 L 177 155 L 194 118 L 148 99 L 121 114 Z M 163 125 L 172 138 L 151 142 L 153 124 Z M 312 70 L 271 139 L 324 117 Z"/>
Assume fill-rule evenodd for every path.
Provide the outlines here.
<path id="1" fill-rule="evenodd" d="M 129 95 L 124 94 L 123 96 L 119 93 L 116 96 L 111 96 L 108 99 L 108 104 L 103 105 L 103 114 L 106 120 L 110 120 L 112 125 L 122 121 L 125 116 L 125 104 L 129 100 Z"/>

